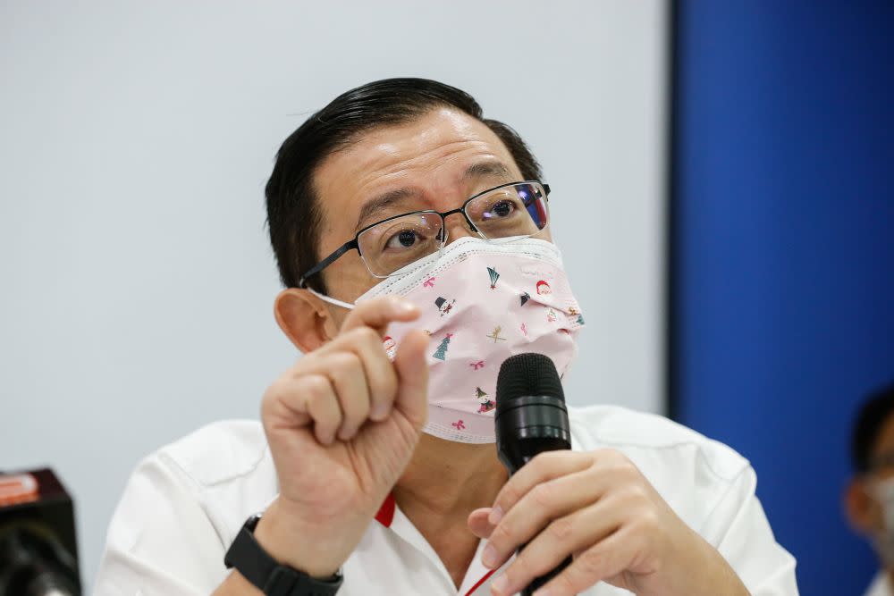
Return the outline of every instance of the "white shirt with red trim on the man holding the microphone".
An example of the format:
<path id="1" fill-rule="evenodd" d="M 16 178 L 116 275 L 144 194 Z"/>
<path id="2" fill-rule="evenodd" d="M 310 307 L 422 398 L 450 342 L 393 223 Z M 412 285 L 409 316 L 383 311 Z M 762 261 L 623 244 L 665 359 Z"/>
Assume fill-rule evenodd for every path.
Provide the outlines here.
<path id="1" fill-rule="evenodd" d="M 752 596 L 797 595 L 795 559 L 773 538 L 755 497 L 755 472 L 717 441 L 662 416 L 621 407 L 569 408 L 572 445 L 626 454 L 662 497 L 713 544 Z M 223 555 L 277 481 L 257 422 L 211 424 L 145 459 L 109 526 L 96 594 L 209 594 L 228 571 Z M 476 557 L 457 591 L 422 534 L 387 499 L 343 567 L 339 596 L 485 596 L 499 576 Z M 629 594 L 598 583 L 582 596 Z"/>

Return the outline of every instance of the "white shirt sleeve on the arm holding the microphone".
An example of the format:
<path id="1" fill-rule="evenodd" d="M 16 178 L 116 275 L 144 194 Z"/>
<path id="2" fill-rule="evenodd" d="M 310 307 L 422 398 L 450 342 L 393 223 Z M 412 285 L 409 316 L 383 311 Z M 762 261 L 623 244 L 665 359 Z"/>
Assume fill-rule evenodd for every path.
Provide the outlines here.
<path id="1" fill-rule="evenodd" d="M 730 484 L 701 530 L 752 596 L 797 596 L 795 558 L 773 536 L 755 495 L 757 476 L 746 468 Z"/>

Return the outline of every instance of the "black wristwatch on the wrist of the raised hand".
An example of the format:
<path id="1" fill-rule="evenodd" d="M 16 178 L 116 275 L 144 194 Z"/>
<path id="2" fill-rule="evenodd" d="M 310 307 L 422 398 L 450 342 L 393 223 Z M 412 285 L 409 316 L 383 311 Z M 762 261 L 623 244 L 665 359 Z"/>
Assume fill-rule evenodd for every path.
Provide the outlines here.
<path id="1" fill-rule="evenodd" d="M 249 517 L 223 557 L 227 569 L 236 567 L 266 596 L 334 596 L 342 587 L 342 574 L 316 579 L 298 569 L 280 565 L 255 540 L 260 514 Z"/>

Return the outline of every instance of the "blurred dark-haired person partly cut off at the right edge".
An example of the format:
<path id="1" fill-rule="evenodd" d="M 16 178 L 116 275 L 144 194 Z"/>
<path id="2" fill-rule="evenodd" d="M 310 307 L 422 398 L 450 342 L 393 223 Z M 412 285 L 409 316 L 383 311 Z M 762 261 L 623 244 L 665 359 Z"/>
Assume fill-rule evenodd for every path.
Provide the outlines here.
<path id="1" fill-rule="evenodd" d="M 894 594 L 894 384 L 866 399 L 851 441 L 856 474 L 845 492 L 845 512 L 856 532 L 873 543 L 881 571 L 867 596 Z"/>

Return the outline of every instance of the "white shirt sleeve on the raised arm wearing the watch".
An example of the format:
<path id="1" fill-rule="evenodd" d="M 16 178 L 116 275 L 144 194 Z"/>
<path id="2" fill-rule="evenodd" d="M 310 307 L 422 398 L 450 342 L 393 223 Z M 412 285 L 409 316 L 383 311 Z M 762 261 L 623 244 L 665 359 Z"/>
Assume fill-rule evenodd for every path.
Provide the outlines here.
<path id="1" fill-rule="evenodd" d="M 164 452 L 132 474 L 99 565 L 97 596 L 191 596 L 214 592 L 225 547 L 198 499 L 198 485 Z"/>

